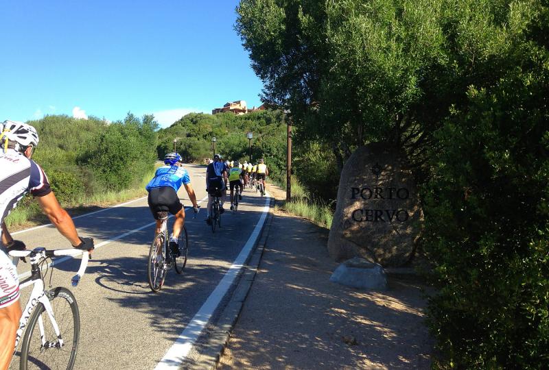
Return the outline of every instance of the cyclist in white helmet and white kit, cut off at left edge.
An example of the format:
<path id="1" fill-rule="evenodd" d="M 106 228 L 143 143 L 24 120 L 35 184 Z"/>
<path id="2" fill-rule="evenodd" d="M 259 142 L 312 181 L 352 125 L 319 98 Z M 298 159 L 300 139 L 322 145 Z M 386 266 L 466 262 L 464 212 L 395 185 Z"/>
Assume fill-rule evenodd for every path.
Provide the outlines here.
<path id="1" fill-rule="evenodd" d="M 19 278 L 8 256 L 12 249 L 25 249 L 14 240 L 4 219 L 23 195 L 31 193 L 49 221 L 78 249 L 93 250 L 93 238 L 80 238 L 73 220 L 51 191 L 42 168 L 30 158 L 38 145 L 38 134 L 31 125 L 17 121 L 0 123 L 0 369 L 7 369 L 15 345 L 15 333 L 21 318 Z"/>

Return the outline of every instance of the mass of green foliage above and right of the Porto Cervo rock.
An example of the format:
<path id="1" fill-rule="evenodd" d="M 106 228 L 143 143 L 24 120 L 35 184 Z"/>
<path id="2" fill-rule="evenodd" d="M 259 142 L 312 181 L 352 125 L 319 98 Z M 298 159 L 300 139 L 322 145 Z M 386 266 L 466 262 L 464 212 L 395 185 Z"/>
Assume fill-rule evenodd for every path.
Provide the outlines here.
<path id="1" fill-rule="evenodd" d="M 417 164 L 441 367 L 549 360 L 547 0 L 242 0 L 264 99 L 300 140 Z"/>

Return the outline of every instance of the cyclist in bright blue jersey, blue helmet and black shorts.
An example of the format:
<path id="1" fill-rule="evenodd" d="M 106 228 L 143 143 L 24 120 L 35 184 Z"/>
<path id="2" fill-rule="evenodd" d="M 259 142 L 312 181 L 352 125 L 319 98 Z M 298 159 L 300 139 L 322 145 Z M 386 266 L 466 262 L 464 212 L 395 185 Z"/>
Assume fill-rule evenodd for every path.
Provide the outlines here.
<path id="1" fill-rule="evenodd" d="M 162 221 L 158 219 L 159 211 L 169 211 L 174 214 L 174 228 L 170 236 L 170 249 L 173 254 L 179 256 L 179 245 L 177 238 L 185 225 L 185 208 L 181 204 L 177 195 L 177 190 L 181 185 L 185 186 L 189 199 L 193 204 L 194 213 L 198 213 L 198 204 L 196 203 L 196 195 L 191 186 L 189 173 L 181 164 L 182 158 L 178 153 L 167 153 L 164 157 L 165 166 L 159 167 L 154 173 L 154 177 L 145 186 L 149 195 L 147 198 L 149 208 L 152 212 L 152 217 L 156 220 L 156 234 L 160 233 Z M 166 256 L 166 262 L 170 263 L 172 257 L 170 254 Z"/>

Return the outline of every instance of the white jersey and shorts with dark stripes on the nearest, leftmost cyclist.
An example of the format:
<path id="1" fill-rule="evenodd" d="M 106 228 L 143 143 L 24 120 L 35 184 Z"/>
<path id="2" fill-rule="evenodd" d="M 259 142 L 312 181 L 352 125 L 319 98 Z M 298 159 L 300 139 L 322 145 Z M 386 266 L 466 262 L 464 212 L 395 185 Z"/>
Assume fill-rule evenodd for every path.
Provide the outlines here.
<path id="1" fill-rule="evenodd" d="M 0 154 L 1 222 L 27 193 L 43 197 L 51 193 L 47 176 L 38 164 L 14 149 Z M 0 238 L 1 238 L 0 228 Z M 0 239 L 1 240 L 1 239 Z M 0 245 L 3 248 L 3 246 Z M 19 299 L 19 279 L 11 258 L 0 248 L 0 308 Z"/>

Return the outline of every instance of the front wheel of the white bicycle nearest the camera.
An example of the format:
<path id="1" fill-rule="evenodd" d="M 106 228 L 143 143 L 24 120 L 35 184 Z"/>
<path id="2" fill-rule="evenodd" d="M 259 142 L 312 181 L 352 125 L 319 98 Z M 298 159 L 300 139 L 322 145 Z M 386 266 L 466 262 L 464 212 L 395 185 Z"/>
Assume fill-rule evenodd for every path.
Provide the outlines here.
<path id="1" fill-rule="evenodd" d="M 60 334 L 57 336 L 44 305 L 38 304 L 23 336 L 19 364 L 21 370 L 74 367 L 80 336 L 80 312 L 76 299 L 69 289 L 62 287 L 46 292 L 46 297 Z"/>

